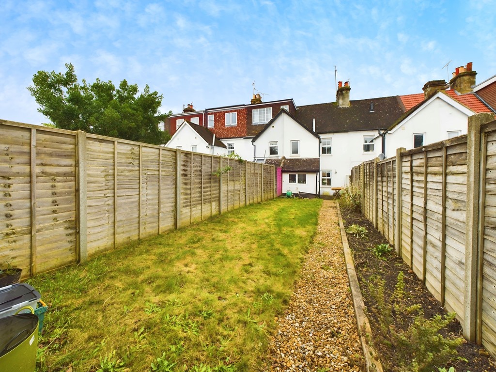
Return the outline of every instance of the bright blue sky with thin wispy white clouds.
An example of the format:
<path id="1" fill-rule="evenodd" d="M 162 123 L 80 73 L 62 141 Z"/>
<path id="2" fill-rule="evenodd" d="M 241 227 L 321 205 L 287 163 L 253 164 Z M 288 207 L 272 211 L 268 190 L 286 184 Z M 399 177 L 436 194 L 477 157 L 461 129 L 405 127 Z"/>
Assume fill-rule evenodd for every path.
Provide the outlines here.
<path id="1" fill-rule="evenodd" d="M 49 122 L 26 89 L 38 70 L 123 79 L 164 95 L 162 112 L 264 101 L 421 93 L 442 67 L 496 74 L 496 0 L 0 1 L 0 119 Z"/>

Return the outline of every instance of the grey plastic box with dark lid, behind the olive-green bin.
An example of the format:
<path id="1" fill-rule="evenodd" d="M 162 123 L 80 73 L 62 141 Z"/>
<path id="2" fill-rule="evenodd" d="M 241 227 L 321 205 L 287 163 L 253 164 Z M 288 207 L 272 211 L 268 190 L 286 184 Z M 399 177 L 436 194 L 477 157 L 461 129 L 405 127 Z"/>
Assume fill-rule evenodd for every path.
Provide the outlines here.
<path id="1" fill-rule="evenodd" d="M 40 292 L 26 283 L 0 288 L 0 318 L 17 313 L 31 312 L 38 307 Z"/>

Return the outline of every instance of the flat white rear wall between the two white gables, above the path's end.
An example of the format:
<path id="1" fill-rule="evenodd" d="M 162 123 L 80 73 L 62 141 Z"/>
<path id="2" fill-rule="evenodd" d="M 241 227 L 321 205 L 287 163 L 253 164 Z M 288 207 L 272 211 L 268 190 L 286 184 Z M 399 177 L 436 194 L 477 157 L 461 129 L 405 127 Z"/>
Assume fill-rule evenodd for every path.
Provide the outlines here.
<path id="1" fill-rule="evenodd" d="M 320 171 L 331 171 L 331 186 L 320 186 L 322 195 L 332 195 L 331 187 L 349 184 L 351 169 L 364 161 L 376 158 L 381 153 L 381 137 L 374 140 L 374 151 L 364 152 L 364 135 L 378 135 L 376 130 L 324 133 L 320 138 L 331 138 L 331 154 L 320 154 Z"/>

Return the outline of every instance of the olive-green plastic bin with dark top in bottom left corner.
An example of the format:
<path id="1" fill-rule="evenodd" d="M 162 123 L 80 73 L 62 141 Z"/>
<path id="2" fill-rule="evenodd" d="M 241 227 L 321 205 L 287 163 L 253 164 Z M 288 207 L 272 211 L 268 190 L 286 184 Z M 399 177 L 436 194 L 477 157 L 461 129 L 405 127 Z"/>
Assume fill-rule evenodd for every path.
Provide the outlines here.
<path id="1" fill-rule="evenodd" d="M 38 323 L 35 314 L 0 318 L 0 371 L 35 371 Z"/>

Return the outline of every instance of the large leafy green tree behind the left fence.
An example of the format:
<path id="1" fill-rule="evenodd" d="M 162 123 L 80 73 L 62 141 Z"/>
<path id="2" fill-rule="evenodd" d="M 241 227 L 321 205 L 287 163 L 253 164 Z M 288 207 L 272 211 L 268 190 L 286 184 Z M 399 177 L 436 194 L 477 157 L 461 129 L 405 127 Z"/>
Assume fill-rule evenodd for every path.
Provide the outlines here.
<path id="1" fill-rule="evenodd" d="M 92 84 L 85 79 L 78 83 L 74 66 L 65 67 L 65 73 L 38 71 L 27 88 L 40 105 L 38 111 L 57 128 L 152 144 L 167 142 L 168 133 L 158 128 L 168 116 L 159 111 L 163 95 L 150 92 L 148 85 L 138 94 L 138 86 L 126 80 L 117 89 L 110 80 L 98 78 Z"/>

